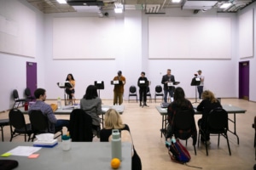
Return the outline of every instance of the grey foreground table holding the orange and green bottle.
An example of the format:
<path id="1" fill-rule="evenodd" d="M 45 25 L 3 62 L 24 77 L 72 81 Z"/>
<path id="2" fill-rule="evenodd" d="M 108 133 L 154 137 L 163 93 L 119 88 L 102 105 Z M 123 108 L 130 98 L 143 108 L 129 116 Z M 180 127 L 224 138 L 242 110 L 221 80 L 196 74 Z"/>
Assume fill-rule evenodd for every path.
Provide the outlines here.
<path id="1" fill-rule="evenodd" d="M 14 149 L 16 146 L 32 146 L 32 142 L 1 142 L 0 155 Z M 27 156 L 1 157 L 2 160 L 16 160 L 19 166 L 15 170 L 112 170 L 110 142 L 72 142 L 71 150 L 63 151 L 61 142 L 54 148 L 42 148 L 35 154 L 38 158 Z M 122 161 L 119 170 L 131 170 L 131 143 L 122 143 Z"/>

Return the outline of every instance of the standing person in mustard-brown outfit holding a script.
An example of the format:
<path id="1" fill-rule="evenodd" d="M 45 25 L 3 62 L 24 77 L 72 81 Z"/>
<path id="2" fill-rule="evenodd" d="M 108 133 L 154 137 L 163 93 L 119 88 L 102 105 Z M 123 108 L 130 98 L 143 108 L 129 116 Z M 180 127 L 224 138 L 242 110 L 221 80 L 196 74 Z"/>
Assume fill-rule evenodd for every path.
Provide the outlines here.
<path id="1" fill-rule="evenodd" d="M 118 76 L 113 77 L 113 81 L 119 81 L 119 84 L 114 84 L 113 87 L 113 105 L 121 105 L 123 103 L 125 77 L 122 75 L 122 71 L 118 71 Z"/>

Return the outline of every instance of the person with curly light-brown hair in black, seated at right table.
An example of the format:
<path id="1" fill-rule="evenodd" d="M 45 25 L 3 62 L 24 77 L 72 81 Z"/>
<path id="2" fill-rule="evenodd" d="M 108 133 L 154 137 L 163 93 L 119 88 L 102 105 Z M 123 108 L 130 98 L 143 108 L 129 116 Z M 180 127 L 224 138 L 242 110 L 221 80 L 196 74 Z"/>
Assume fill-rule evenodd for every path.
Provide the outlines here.
<path id="1" fill-rule="evenodd" d="M 218 99 L 214 97 L 214 94 L 210 90 L 205 90 L 202 93 L 202 101 L 197 106 L 196 110 L 202 112 L 201 119 L 198 120 L 198 127 L 201 127 L 202 129 L 206 128 L 207 123 L 207 114 L 212 111 L 212 109 L 215 108 L 222 108 L 222 105 L 219 103 Z M 207 142 L 207 144 L 211 144 L 210 142 L 210 135 L 207 134 L 206 136 L 203 136 L 201 134 L 201 141 Z"/>

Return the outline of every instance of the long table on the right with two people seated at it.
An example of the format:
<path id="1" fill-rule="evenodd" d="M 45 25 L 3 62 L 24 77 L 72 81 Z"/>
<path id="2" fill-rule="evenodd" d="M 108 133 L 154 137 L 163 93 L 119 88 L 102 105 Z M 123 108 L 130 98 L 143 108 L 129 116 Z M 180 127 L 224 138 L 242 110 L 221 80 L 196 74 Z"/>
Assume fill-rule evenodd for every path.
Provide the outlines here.
<path id="1" fill-rule="evenodd" d="M 234 123 L 234 131 L 231 131 L 229 129 L 229 132 L 234 134 L 234 135 L 236 135 L 237 144 L 239 144 L 239 137 L 238 137 L 238 135 L 236 133 L 236 114 L 243 114 L 243 113 L 246 112 L 246 110 L 244 110 L 244 109 L 242 109 L 240 107 L 234 106 L 234 105 L 222 105 L 222 107 L 229 114 L 233 114 L 234 115 L 233 119 L 231 119 L 229 117 L 229 121 Z M 167 108 L 162 108 L 161 106 L 155 106 L 155 108 L 160 113 L 160 115 L 162 116 L 162 128 L 160 129 L 160 133 L 161 133 L 161 137 L 162 137 L 163 134 L 165 135 L 166 127 L 167 127 L 167 124 L 168 124 L 168 121 L 167 121 Z M 194 108 L 196 108 L 195 105 L 194 105 Z M 201 111 L 196 111 L 196 109 L 195 109 L 195 115 L 201 115 Z"/>

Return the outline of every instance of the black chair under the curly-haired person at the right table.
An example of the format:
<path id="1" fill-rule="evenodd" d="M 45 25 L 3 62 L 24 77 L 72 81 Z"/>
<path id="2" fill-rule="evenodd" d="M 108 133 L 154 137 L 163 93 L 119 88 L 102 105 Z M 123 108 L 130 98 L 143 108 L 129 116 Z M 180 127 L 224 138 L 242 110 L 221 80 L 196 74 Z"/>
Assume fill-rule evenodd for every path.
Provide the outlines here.
<path id="1" fill-rule="evenodd" d="M 198 134 L 198 140 L 200 139 L 200 135 L 206 136 L 207 134 L 218 134 L 218 146 L 219 146 L 219 136 L 220 134 L 227 139 L 227 144 L 229 147 L 229 152 L 231 156 L 230 151 L 230 142 L 228 138 L 228 130 L 229 130 L 229 117 L 227 111 L 225 111 L 222 108 L 216 108 L 210 111 L 207 115 L 207 123 L 206 128 L 203 129 L 199 127 L 199 134 Z M 207 156 L 208 156 L 208 146 L 207 142 L 205 142 L 206 150 L 207 150 Z M 199 143 L 198 143 L 199 146 Z"/>

